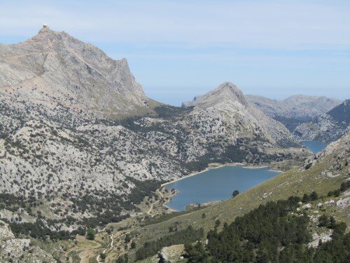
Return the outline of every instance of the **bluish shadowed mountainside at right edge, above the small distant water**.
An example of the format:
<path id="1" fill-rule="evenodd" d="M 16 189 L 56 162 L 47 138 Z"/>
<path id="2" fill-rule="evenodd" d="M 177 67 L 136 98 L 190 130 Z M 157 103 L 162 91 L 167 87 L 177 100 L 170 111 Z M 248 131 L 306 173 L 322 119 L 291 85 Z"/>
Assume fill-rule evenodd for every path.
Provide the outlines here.
<path id="1" fill-rule="evenodd" d="M 295 128 L 295 135 L 302 140 L 332 142 L 350 130 L 350 100 L 334 107 L 326 114 L 317 116 L 312 121 L 302 123 Z"/>

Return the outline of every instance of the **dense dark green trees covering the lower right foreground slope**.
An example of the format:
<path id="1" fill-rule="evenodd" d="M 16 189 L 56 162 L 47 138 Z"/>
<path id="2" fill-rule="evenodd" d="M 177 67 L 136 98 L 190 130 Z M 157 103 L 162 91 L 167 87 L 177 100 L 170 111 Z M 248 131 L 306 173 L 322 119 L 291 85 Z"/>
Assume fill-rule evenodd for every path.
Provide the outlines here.
<path id="1" fill-rule="evenodd" d="M 315 194 L 308 198 L 315 198 Z M 344 234 L 346 224 L 333 217 L 319 217 L 319 227 L 333 229 L 332 241 L 309 248 L 311 235 L 306 215 L 296 210 L 299 197 L 260 205 L 223 231 L 208 233 L 205 248 L 202 243 L 186 245 L 188 262 L 349 262 L 350 234 Z"/>

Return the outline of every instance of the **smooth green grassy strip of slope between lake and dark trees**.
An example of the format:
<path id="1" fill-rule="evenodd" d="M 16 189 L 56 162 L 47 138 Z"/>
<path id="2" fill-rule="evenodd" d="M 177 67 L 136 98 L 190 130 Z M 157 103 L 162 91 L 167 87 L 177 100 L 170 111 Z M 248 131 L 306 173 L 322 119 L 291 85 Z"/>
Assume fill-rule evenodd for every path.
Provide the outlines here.
<path id="1" fill-rule="evenodd" d="M 291 195 L 302 196 L 302 194 L 309 194 L 311 191 L 316 191 L 319 195 L 326 196 L 328 191 L 339 188 L 348 170 L 346 166 L 343 166 L 342 170 L 337 171 L 339 173 L 337 177 L 322 175 L 324 170 L 332 170 L 330 167 L 336 158 L 337 156 L 326 156 L 323 161 L 316 163 L 309 170 L 301 170 L 300 168 L 289 170 L 228 201 L 138 229 L 140 233 L 139 243 L 167 234 L 169 226 L 175 225 L 175 222 L 180 223 L 181 229 L 191 224 L 193 227 L 204 227 L 205 231 L 209 231 L 209 229 L 214 228 L 216 219 L 221 220 L 222 223 L 230 223 L 235 217 L 244 215 L 244 213 L 257 208 L 258 205 L 267 201 L 286 199 Z M 264 195 L 267 197 L 264 198 Z M 206 214 L 204 219 L 202 218 L 203 213 Z M 337 211 L 337 220 L 344 220 L 348 224 L 350 223 L 349 217 L 346 217 L 346 211 Z"/>

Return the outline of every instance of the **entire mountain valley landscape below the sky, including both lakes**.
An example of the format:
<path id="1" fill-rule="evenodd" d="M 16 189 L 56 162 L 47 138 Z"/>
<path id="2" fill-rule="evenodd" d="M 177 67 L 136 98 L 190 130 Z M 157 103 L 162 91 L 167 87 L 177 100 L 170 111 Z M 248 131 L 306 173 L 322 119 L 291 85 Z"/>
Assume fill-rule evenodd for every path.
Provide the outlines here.
<path id="1" fill-rule="evenodd" d="M 241 238 L 236 262 L 316 258 L 349 233 L 349 100 L 271 100 L 226 81 L 174 107 L 147 97 L 125 58 L 44 25 L 0 44 L 0 114 L 2 262 L 226 262 L 220 235 Z M 265 209 L 278 213 L 261 222 L 303 238 L 292 226 L 270 250 L 232 234 Z"/>

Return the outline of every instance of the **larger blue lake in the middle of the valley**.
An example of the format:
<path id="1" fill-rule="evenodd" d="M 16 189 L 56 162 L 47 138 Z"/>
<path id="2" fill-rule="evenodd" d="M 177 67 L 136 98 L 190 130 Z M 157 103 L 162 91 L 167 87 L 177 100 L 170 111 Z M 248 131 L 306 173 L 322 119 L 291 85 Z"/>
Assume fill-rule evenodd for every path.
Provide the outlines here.
<path id="1" fill-rule="evenodd" d="M 279 172 L 269 168 L 244 168 L 243 166 L 222 166 L 203 173 L 186 177 L 172 184 L 167 189 L 176 189 L 179 194 L 167 203 L 169 208 L 181 211 L 190 203 L 207 203 L 222 201 L 232 197 L 237 189 L 240 193 L 265 182 Z"/>

